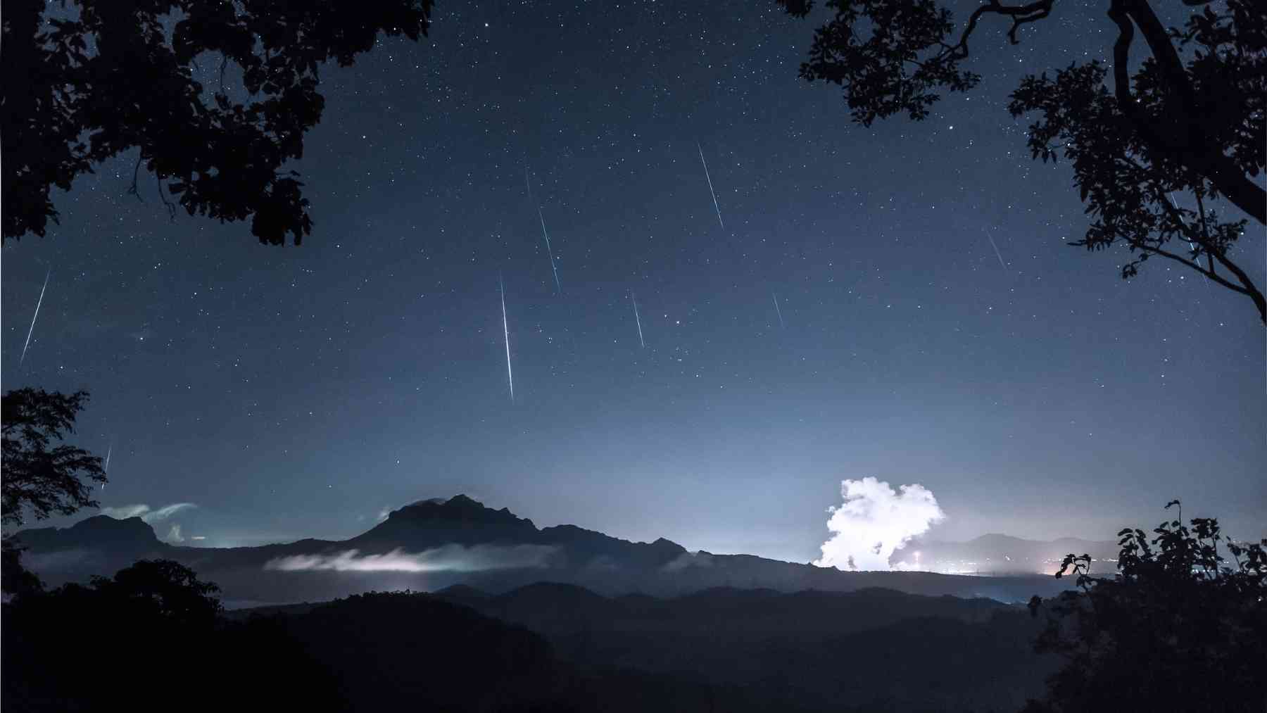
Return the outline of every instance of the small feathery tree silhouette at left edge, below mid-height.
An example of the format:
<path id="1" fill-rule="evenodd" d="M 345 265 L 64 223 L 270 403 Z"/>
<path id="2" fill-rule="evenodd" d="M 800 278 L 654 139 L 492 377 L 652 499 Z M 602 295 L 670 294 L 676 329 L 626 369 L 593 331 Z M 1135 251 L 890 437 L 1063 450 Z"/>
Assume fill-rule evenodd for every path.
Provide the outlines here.
<path id="1" fill-rule="evenodd" d="M 62 438 L 75 432 L 75 417 L 87 403 L 87 391 L 71 395 L 43 389 L 16 389 L 0 398 L 4 477 L 0 479 L 3 527 L 20 527 L 29 512 L 35 519 L 53 513 L 68 515 L 94 508 L 92 483 L 105 483 L 101 458 Z M 3 541 L 0 581 L 5 593 L 41 588 L 39 579 L 22 566 L 20 550 Z"/>

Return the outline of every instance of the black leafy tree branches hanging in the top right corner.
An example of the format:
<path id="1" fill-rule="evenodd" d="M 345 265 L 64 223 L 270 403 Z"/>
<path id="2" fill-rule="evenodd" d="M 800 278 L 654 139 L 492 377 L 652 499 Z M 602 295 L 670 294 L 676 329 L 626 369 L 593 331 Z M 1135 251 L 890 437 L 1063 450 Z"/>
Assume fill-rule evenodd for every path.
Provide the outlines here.
<path id="1" fill-rule="evenodd" d="M 793 16 L 812 1 L 778 0 Z M 935 0 L 827 0 L 835 16 L 817 28 L 801 76 L 843 87 L 853 120 L 906 113 L 927 118 L 940 92 L 965 92 L 981 76 L 964 68 L 969 39 L 987 15 L 1011 20 L 1007 38 L 1045 19 L 1055 0 L 1005 5 L 986 0 L 957 32 Z M 1034 158 L 1072 161 L 1074 184 L 1092 218 L 1071 244 L 1100 251 L 1123 242 L 1131 261 L 1124 279 L 1152 257 L 1187 266 L 1248 296 L 1267 323 L 1263 293 L 1232 258 L 1247 220 L 1221 215 L 1224 199 L 1267 224 L 1267 192 L 1256 181 L 1267 160 L 1267 4 L 1183 0 L 1200 6 L 1181 28 L 1164 28 L 1148 0 L 1110 0 L 1117 25 L 1114 90 L 1098 61 L 1048 77 L 1030 75 L 1011 95 L 1014 117 L 1038 114 L 1029 128 Z M 1130 76 L 1135 33 L 1149 56 Z M 1176 194 L 1188 194 L 1181 208 Z"/>

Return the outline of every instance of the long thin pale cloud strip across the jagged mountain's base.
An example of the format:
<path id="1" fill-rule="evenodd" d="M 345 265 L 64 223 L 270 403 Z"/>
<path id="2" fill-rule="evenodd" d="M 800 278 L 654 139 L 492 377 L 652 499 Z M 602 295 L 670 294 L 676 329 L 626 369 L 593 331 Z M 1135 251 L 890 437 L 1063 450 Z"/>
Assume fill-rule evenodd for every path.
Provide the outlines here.
<path id="1" fill-rule="evenodd" d="M 545 567 L 555 550 L 555 547 L 546 545 L 475 545 L 471 547 L 445 545 L 422 552 L 405 552 L 395 548 L 385 555 L 361 555 L 359 550 L 346 550 L 333 555 L 276 557 L 265 562 L 264 569 L 286 572 L 478 572 Z"/>

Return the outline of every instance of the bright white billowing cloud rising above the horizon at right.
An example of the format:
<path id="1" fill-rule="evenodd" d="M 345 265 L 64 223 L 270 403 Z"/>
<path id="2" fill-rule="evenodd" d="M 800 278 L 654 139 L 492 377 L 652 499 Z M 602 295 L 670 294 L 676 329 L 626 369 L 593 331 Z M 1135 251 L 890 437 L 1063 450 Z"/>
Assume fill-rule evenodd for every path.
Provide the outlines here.
<path id="1" fill-rule="evenodd" d="M 827 508 L 830 539 L 822 543 L 820 567 L 888 570 L 888 557 L 912 537 L 945 519 L 933 493 L 919 484 L 893 490 L 874 477 L 843 480 L 844 503 Z"/>

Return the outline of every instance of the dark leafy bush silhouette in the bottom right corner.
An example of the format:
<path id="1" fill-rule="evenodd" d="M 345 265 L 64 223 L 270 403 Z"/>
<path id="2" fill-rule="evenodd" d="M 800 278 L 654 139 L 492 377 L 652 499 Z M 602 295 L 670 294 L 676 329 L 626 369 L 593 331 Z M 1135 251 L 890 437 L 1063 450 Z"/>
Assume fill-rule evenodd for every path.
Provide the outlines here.
<path id="1" fill-rule="evenodd" d="M 1064 665 L 1025 713 L 1267 709 L 1267 539 L 1224 541 L 1214 518 L 1191 526 L 1181 512 L 1152 543 L 1123 529 L 1116 576 L 1064 558 L 1055 576 L 1077 575 L 1078 589 L 1030 600 L 1047 618 L 1038 651 Z"/>

